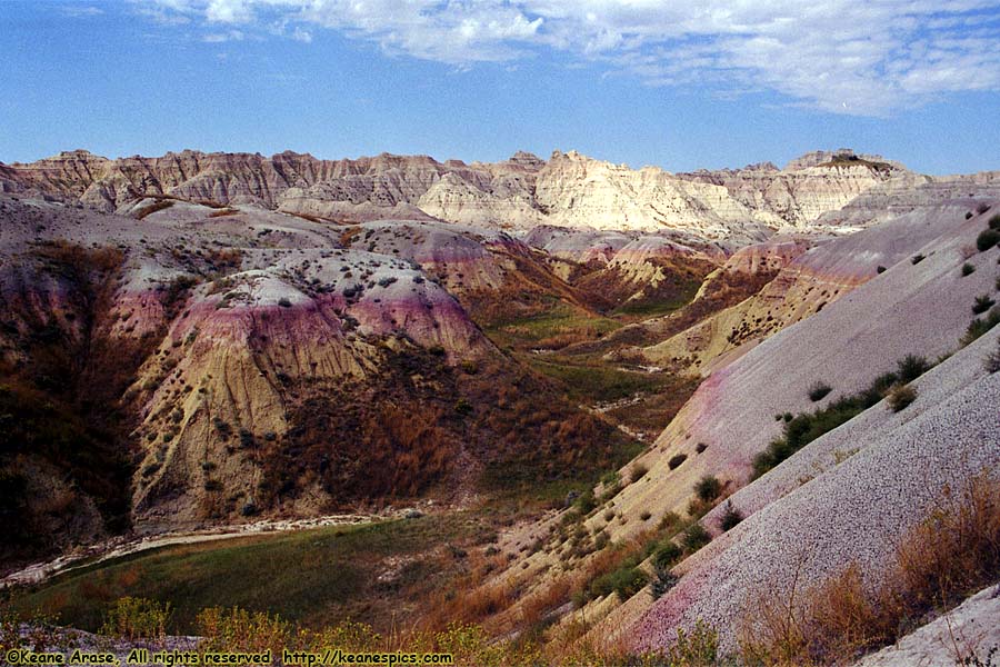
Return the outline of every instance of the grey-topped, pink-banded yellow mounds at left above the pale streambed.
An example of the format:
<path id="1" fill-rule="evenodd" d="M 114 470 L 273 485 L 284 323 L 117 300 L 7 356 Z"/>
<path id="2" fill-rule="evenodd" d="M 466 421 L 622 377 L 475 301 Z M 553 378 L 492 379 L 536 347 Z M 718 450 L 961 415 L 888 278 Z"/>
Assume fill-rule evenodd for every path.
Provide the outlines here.
<path id="1" fill-rule="evenodd" d="M 156 206 L 163 201 L 170 206 Z M 42 509 L 30 512 L 39 521 L 59 519 L 53 525 L 67 540 L 96 538 L 112 520 L 119 524 L 108 528 L 119 530 L 129 505 L 142 530 L 321 511 L 334 500 L 323 466 L 334 475 L 346 465 L 339 448 L 364 441 L 364 419 L 373 419 L 368 406 L 447 394 L 441 384 L 451 381 L 450 367 L 493 354 L 462 306 L 417 261 L 428 270 L 436 261 L 462 261 L 458 272 L 502 282 L 490 253 L 454 231 L 428 229 L 430 240 L 421 241 L 408 228 L 392 237 L 403 252 L 387 242 L 378 253 L 367 245 L 343 247 L 342 231 L 326 225 L 261 209 L 140 199 L 132 210 L 141 223 L 40 200 L 0 201 L 0 372 L 9 391 L 0 400 L 11 409 L 17 401 L 41 406 L 38 391 L 46 392 L 56 410 L 47 419 L 60 434 L 79 429 L 77 449 L 91 466 L 74 460 L 77 449 L 47 454 L 49 447 L 14 459 L 17 452 L 4 451 L 0 471 L 23 484 L 28 499 L 71 499 L 58 511 L 32 501 Z M 436 245 L 438 236 L 446 240 Z M 428 369 L 442 379 L 419 379 Z M 280 459 L 288 449 L 318 451 L 308 432 L 294 430 L 324 415 L 310 397 L 344 387 L 354 394 L 338 409 L 358 411 L 357 432 L 323 434 L 330 461 L 312 477 L 277 478 L 288 469 Z M 371 401 L 378 391 L 399 395 Z M 101 421 L 121 429 L 104 432 Z M 94 462 L 104 451 L 108 460 Z M 127 452 L 137 458 L 119 460 Z M 383 470 L 403 466 L 386 456 Z M 123 477 L 113 478 L 119 465 Z M 414 465 L 394 472 L 410 485 L 400 489 L 448 474 L 441 461 L 432 474 Z M 80 475 L 88 469 L 113 478 L 117 494 Z M 382 477 L 388 488 L 379 490 L 391 492 L 393 479 Z M 349 489 L 336 500 L 364 494 Z"/>

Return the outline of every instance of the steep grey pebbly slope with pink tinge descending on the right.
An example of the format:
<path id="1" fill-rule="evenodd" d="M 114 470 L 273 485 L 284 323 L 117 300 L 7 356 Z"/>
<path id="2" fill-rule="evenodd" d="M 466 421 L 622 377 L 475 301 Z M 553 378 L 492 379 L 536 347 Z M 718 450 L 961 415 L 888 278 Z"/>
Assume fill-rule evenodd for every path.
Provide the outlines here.
<path id="1" fill-rule="evenodd" d="M 732 650 L 741 628 L 752 625 L 754 596 L 787 599 L 792 587 L 821 583 L 851 561 L 877 583 L 893 545 L 949 486 L 996 468 L 996 416 L 983 406 L 996 404 L 998 384 L 983 359 L 997 337 L 964 348 L 960 339 L 977 295 L 994 289 L 997 249 L 968 253 L 988 215 L 964 220 L 967 211 L 914 212 L 792 262 L 860 276 L 897 258 L 818 315 L 712 372 L 640 459 L 651 482 L 626 487 L 613 501 L 617 511 L 681 511 L 704 475 L 726 491 L 740 489 L 752 457 L 781 432 L 774 415 L 851 396 L 906 355 L 953 356 L 914 382 L 912 406 L 896 412 L 879 402 L 738 490 L 730 500 L 749 518 L 683 563 L 680 584 L 651 608 L 648 596 L 636 596 L 596 633 L 624 625 L 637 646 L 664 646 L 677 627 L 701 618 Z M 966 262 L 976 270 L 963 271 Z M 809 388 L 818 380 L 832 391 L 817 402 Z M 681 455 L 683 464 L 671 466 Z M 723 510 L 703 521 L 717 535 Z M 613 530 L 612 539 L 627 539 L 634 529 Z"/>

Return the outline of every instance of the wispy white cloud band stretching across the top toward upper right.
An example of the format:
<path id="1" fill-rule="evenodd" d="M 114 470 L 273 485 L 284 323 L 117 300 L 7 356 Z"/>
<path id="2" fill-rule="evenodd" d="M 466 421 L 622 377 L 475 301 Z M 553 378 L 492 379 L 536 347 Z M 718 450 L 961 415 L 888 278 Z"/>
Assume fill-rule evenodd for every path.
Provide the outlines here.
<path id="1" fill-rule="evenodd" d="M 773 90 L 882 116 L 1000 89 L 997 0 L 147 0 L 166 16 L 309 42 L 337 30 L 467 68 L 553 49 L 651 86 Z M 214 29 L 214 30 L 213 30 Z"/>

